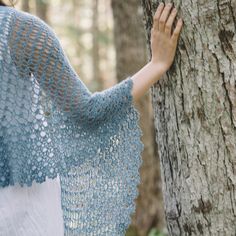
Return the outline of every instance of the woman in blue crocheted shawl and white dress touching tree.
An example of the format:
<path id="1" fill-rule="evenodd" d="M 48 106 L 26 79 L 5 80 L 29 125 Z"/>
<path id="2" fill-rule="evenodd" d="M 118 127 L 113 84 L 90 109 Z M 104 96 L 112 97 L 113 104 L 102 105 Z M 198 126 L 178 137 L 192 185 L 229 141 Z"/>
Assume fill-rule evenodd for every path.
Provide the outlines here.
<path id="1" fill-rule="evenodd" d="M 0 5 L 0 235 L 124 235 L 143 150 L 133 102 L 171 66 L 182 19 L 172 29 L 160 3 L 150 62 L 91 93 L 44 21 Z"/>

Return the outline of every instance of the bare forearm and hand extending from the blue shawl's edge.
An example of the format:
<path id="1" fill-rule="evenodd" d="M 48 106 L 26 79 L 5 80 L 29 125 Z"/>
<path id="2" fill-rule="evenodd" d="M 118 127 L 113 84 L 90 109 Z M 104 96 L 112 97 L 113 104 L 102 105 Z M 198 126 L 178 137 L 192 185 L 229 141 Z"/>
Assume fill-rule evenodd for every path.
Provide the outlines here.
<path id="1" fill-rule="evenodd" d="M 131 77 L 134 81 L 132 95 L 135 101 L 139 100 L 161 78 L 173 62 L 183 21 L 181 18 L 178 20 L 171 34 L 172 24 L 177 14 L 176 8 L 172 11 L 171 8 L 171 3 L 165 7 L 163 3 L 160 3 L 154 15 L 151 31 L 152 59 Z"/>

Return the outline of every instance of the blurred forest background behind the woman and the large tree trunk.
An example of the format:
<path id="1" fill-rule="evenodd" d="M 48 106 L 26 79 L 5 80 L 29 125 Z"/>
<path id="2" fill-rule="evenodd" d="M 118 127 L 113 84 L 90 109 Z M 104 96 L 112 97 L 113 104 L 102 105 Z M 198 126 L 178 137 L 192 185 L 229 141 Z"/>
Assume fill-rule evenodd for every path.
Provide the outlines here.
<path id="1" fill-rule="evenodd" d="M 37 15 L 53 28 L 71 65 L 92 92 L 132 76 L 149 60 L 140 0 L 18 0 L 15 8 Z M 150 92 L 135 105 L 145 148 L 136 211 L 126 236 L 164 236 Z"/>

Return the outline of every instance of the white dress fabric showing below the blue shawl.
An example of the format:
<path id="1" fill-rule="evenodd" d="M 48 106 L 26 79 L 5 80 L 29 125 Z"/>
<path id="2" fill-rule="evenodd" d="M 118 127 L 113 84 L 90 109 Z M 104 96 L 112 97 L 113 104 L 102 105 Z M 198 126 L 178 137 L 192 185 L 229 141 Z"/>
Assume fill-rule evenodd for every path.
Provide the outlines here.
<path id="1" fill-rule="evenodd" d="M 60 180 L 0 188 L 0 236 L 63 236 Z"/>

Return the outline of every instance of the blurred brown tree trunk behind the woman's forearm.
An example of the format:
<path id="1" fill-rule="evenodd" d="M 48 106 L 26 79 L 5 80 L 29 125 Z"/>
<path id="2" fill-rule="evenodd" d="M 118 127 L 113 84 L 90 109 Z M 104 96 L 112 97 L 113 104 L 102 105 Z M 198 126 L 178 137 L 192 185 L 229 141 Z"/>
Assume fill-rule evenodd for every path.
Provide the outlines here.
<path id="1" fill-rule="evenodd" d="M 118 81 L 137 72 L 147 63 L 143 12 L 139 0 L 112 0 L 114 17 L 114 39 L 116 48 L 116 73 Z M 125 24 L 124 24 L 125 21 Z M 140 168 L 141 184 L 136 201 L 136 212 L 132 226 L 140 236 L 146 236 L 150 228 L 162 229 L 164 209 L 161 192 L 159 159 L 155 149 L 153 111 L 150 94 L 137 103 L 140 111 L 140 125 L 145 144 Z"/>

